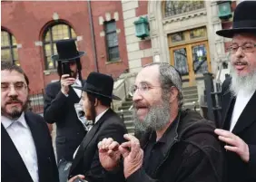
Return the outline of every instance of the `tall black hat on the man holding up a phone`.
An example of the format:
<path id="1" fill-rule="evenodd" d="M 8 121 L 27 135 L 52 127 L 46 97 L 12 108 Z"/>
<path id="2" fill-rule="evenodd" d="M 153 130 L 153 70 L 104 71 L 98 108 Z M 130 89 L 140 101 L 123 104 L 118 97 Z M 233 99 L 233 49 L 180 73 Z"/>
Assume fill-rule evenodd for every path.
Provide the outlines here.
<path id="1" fill-rule="evenodd" d="M 74 40 L 71 39 L 56 42 L 56 48 L 58 54 L 52 56 L 54 61 L 73 61 L 85 53 L 77 51 Z"/>

